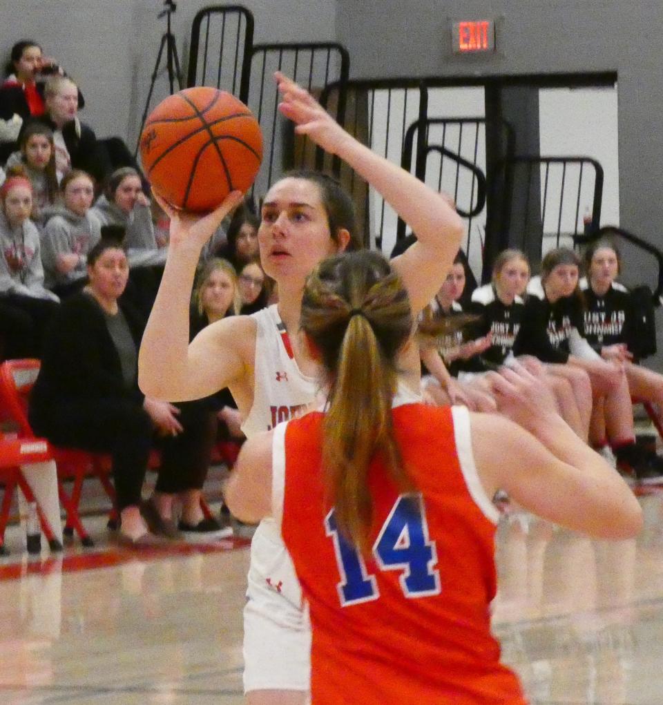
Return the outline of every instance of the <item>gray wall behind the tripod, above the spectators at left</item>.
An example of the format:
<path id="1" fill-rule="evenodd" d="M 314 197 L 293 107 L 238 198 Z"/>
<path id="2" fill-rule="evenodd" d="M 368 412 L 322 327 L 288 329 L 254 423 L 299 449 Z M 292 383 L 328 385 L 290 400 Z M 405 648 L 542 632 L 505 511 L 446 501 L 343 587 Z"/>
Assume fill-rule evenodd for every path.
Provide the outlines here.
<path id="1" fill-rule="evenodd" d="M 183 71 L 195 13 L 213 0 L 179 0 L 173 18 Z M 219 2 L 218 4 L 224 4 Z M 225 3 L 231 4 L 231 3 Z M 336 35 L 334 0 L 242 0 L 255 16 L 256 42 L 323 41 Z M 20 9 L 19 9 L 20 8 Z M 0 1 L 0 56 L 18 39 L 34 39 L 80 84 L 81 117 L 99 137 L 135 145 L 165 19 L 161 0 Z M 163 64 L 165 66 L 165 63 Z M 162 75 L 152 105 L 168 94 Z"/>

